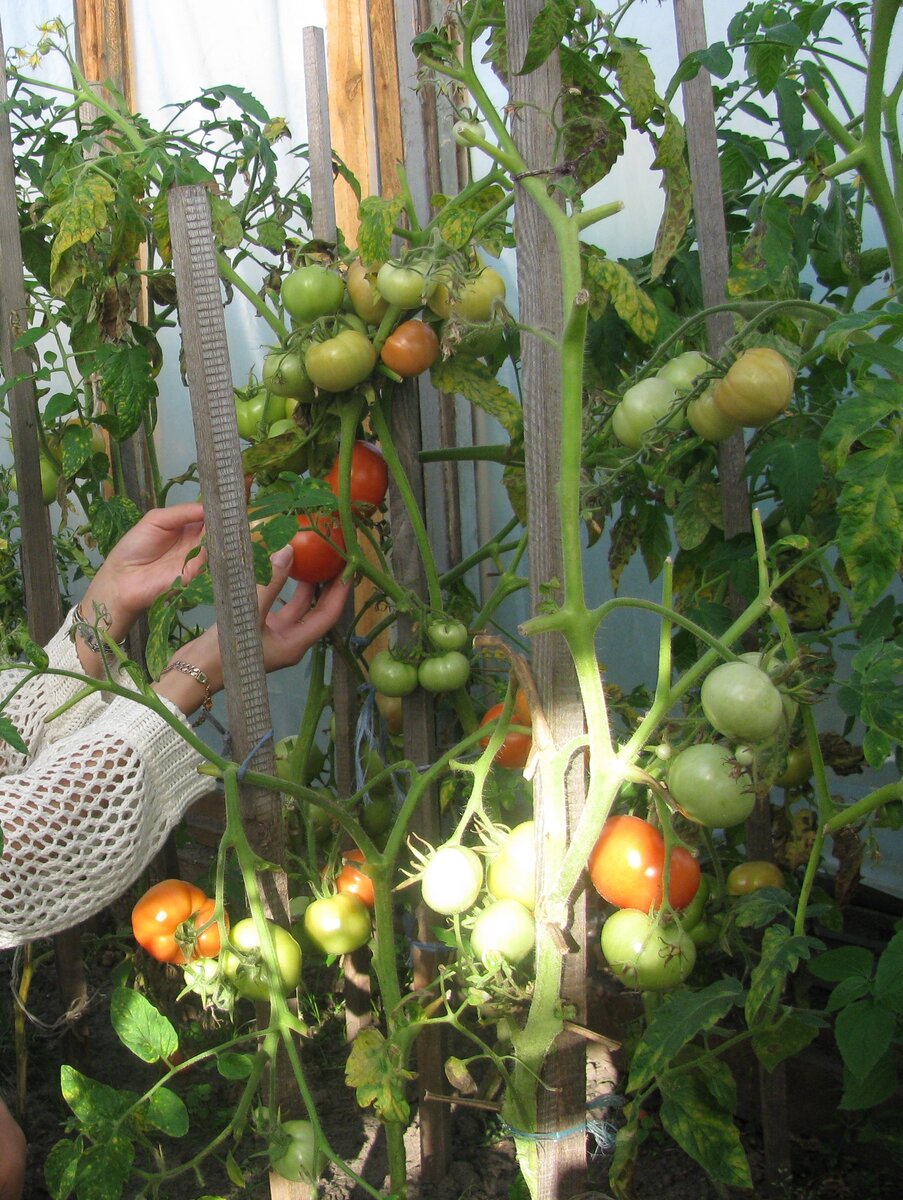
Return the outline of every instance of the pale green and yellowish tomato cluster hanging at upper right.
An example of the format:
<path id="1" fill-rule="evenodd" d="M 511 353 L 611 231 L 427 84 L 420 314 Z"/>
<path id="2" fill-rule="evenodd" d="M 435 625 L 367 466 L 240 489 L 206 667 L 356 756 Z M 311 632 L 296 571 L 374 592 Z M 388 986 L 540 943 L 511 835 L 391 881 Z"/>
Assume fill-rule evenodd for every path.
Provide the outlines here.
<path id="1" fill-rule="evenodd" d="M 687 350 L 633 384 L 611 415 L 617 440 L 640 450 L 650 431 L 689 425 L 705 442 L 723 442 L 743 426 L 758 428 L 779 416 L 794 394 L 793 367 L 769 346 L 741 352 L 726 374 L 699 390 L 700 377 L 711 372 L 698 350 Z M 694 395 L 684 404 L 681 395 L 689 391 Z"/>

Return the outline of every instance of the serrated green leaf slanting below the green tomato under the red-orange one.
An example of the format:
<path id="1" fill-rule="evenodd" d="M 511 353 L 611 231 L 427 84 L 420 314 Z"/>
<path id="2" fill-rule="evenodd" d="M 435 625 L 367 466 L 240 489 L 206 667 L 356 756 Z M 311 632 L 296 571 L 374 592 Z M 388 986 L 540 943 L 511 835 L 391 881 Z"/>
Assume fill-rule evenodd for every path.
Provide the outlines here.
<path id="1" fill-rule="evenodd" d="M 705 1030 L 711 1030 L 735 1004 L 742 1003 L 737 979 L 720 979 L 701 991 L 676 992 L 654 1009 L 642 1040 L 634 1050 L 629 1092 L 638 1092 L 662 1074 L 678 1051 Z"/>

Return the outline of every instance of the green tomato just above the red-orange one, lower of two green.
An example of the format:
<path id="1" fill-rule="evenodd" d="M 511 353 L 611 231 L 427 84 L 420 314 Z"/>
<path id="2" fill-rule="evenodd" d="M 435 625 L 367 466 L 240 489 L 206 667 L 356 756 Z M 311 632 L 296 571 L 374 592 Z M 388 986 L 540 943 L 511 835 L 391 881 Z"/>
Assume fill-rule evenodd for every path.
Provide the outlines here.
<path id="1" fill-rule="evenodd" d="M 668 787 L 681 812 L 710 829 L 741 824 L 755 808 L 753 781 L 728 749 L 711 743 L 687 746 L 675 755 L 668 768 Z"/>

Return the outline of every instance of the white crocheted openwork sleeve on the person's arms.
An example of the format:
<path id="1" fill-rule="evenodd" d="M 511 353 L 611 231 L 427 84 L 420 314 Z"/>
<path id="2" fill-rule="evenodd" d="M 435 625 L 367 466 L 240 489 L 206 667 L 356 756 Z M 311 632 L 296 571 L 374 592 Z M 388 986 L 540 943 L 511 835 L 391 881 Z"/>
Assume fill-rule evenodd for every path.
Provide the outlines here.
<path id="1" fill-rule="evenodd" d="M 70 624 L 71 616 L 47 652 L 52 667 L 80 671 Z M 4 695 L 16 678 L 0 674 Z M 29 754 L 0 742 L 0 949 L 100 912 L 134 882 L 210 788 L 197 770 L 201 756 L 133 700 L 107 702 L 95 694 L 47 724 L 82 686 L 36 676 L 4 709 Z"/>

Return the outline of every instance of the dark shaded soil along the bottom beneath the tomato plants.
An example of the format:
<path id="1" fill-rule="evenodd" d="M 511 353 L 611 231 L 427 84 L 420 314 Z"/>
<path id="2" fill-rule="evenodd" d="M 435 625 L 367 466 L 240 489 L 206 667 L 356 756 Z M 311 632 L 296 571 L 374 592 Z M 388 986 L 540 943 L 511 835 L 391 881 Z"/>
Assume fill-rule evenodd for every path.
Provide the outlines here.
<path id="1" fill-rule="evenodd" d="M 120 926 L 121 928 L 121 926 Z M 67 1109 L 60 1097 L 59 1070 L 65 1062 L 85 1074 L 116 1087 L 144 1091 L 159 1078 L 159 1067 L 139 1062 L 115 1038 L 109 1024 L 108 1000 L 113 972 L 121 961 L 121 946 L 115 941 L 91 938 L 85 943 L 90 1006 L 78 1022 L 78 1036 L 60 1025 L 60 1003 L 50 948 L 41 946 L 44 958 L 38 965 L 29 995 L 28 1008 L 28 1093 L 23 1124 L 30 1146 L 29 1178 L 25 1200 L 49 1200 L 43 1180 L 43 1164 L 52 1146 L 62 1136 Z M 12 1100 L 16 1061 L 12 1030 L 10 985 L 16 970 L 12 954 L 0 955 L 0 1088 Z M 166 968 L 172 971 L 173 968 Z M 191 1028 L 197 1013 L 174 1002 L 179 984 L 163 973 L 153 980 L 154 998 L 161 1008 L 178 1015 L 181 1028 Z M 184 1002 L 181 1002 L 184 1006 Z M 198 1026 L 195 1025 L 197 1033 Z M 198 1033 L 203 1039 L 204 1034 Z M 304 1050 L 306 1070 L 322 1112 L 328 1136 L 335 1151 L 373 1187 L 388 1193 L 385 1154 L 379 1123 L 371 1111 L 358 1108 L 352 1091 L 345 1085 L 346 1046 L 340 1008 L 336 1007 L 317 1037 Z M 606 1091 L 610 1064 L 592 1055 L 587 1063 L 587 1097 Z M 234 1106 L 237 1087 L 213 1070 L 193 1068 L 174 1084 L 189 1105 L 191 1133 L 168 1159 L 185 1160 L 210 1139 Z M 641 1151 L 635 1180 L 636 1200 L 734 1200 L 750 1195 L 766 1196 L 763 1182 L 763 1154 L 755 1127 L 741 1127 L 753 1176 L 753 1192 L 717 1190 L 705 1174 L 668 1139 L 651 1114 L 653 1133 Z M 821 1117 L 824 1120 L 824 1117 Z M 514 1158 L 514 1147 L 498 1120 L 491 1114 L 465 1106 L 452 1111 L 452 1162 L 438 1183 L 420 1178 L 419 1129 L 414 1120 L 407 1136 L 409 1163 L 409 1200 L 526 1200 L 526 1190 Z M 592 1140 L 591 1140 L 592 1141 Z M 173 1145 L 173 1144 L 171 1144 Z M 608 1157 L 591 1146 L 590 1177 L 585 1200 L 604 1200 L 608 1193 Z M 839 1121 L 814 1132 L 795 1132 L 793 1136 L 794 1183 L 784 1195 L 788 1200 L 897 1200 L 901 1194 L 899 1165 L 877 1158 L 874 1152 L 855 1153 L 851 1138 L 844 1135 Z M 181 1175 L 161 1190 L 161 1200 L 265 1200 L 269 1188 L 263 1159 L 257 1174 L 247 1174 L 246 1186 L 231 1182 L 221 1165 L 205 1168 L 203 1182 L 192 1172 Z M 125 1190 L 126 1200 L 138 1195 L 137 1186 Z M 364 1200 L 343 1174 L 329 1169 L 318 1195 L 323 1200 Z M 94 1200 L 86 1196 L 80 1200 Z"/>

